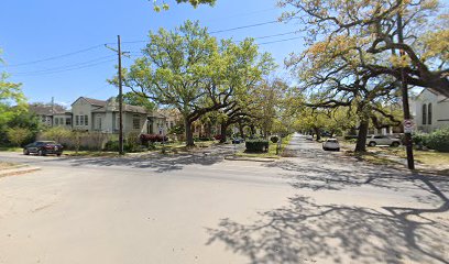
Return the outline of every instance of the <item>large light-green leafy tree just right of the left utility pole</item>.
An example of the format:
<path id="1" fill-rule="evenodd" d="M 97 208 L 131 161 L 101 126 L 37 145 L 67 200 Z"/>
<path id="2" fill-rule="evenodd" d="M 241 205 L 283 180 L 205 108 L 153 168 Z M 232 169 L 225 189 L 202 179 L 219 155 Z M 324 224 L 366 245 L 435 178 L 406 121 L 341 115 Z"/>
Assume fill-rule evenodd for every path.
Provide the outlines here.
<path id="1" fill-rule="evenodd" d="M 174 31 L 150 33 L 150 42 L 125 73 L 125 85 L 158 105 L 176 108 L 191 124 L 208 112 L 230 106 L 273 68 L 253 40 L 217 42 L 198 22 Z M 187 144 L 193 144 L 186 130 Z"/>

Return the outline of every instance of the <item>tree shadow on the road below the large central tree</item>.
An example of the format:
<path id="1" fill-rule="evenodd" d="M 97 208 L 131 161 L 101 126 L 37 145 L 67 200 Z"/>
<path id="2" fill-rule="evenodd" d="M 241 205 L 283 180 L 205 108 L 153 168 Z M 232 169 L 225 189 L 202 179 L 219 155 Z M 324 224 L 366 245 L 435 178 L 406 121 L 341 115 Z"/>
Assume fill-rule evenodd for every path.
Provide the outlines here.
<path id="1" fill-rule="evenodd" d="M 187 165 L 210 166 L 220 163 L 226 155 L 233 153 L 230 147 L 216 147 L 213 150 L 196 151 L 180 154 L 149 154 L 124 157 L 91 157 L 74 158 L 72 166 L 127 166 L 131 168 L 154 168 L 157 173 L 179 170 Z"/>

